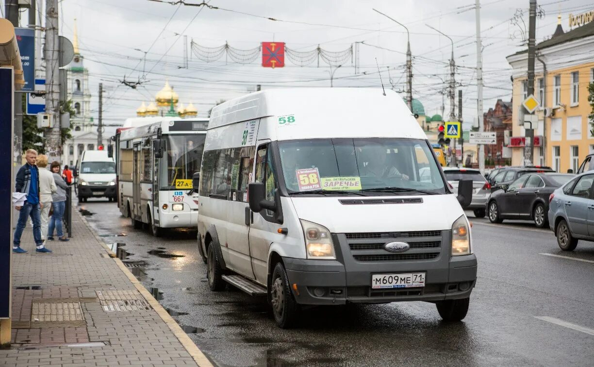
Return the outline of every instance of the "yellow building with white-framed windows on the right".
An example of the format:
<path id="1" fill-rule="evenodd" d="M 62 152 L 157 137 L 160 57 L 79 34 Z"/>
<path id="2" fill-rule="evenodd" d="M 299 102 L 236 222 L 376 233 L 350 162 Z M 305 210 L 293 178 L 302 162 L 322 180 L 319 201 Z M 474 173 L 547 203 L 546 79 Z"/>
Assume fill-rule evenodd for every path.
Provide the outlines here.
<path id="1" fill-rule="evenodd" d="M 520 106 L 527 96 L 527 50 L 507 56 L 513 68 L 513 130 L 507 146 L 511 164 L 524 164 L 525 129 Z M 558 172 L 577 171 L 594 151 L 587 87 L 594 81 L 594 21 L 566 33 L 558 17 L 551 39 L 536 45 L 534 96 L 541 103 L 533 141 L 533 164 Z"/>

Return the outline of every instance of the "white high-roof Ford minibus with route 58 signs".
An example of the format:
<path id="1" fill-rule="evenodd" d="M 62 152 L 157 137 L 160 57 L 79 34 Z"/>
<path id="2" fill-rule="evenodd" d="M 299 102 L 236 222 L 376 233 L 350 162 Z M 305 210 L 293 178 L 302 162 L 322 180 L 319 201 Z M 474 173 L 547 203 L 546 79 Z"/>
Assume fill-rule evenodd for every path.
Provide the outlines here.
<path id="1" fill-rule="evenodd" d="M 208 285 L 267 295 L 280 327 L 301 306 L 347 302 L 424 300 L 460 320 L 476 281 L 460 206 L 472 182 L 460 185 L 457 198 L 393 91 L 273 89 L 222 103 L 198 197 Z"/>

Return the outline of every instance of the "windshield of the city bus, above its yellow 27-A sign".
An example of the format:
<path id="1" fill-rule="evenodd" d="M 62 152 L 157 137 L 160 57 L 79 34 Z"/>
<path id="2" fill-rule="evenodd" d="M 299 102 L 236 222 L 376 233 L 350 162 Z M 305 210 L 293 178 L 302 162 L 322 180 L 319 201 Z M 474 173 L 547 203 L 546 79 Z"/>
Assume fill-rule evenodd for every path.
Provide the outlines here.
<path id="1" fill-rule="evenodd" d="M 191 180 L 200 172 L 205 135 L 163 135 L 165 146 L 160 159 L 160 186 L 175 189 L 176 180 Z"/>

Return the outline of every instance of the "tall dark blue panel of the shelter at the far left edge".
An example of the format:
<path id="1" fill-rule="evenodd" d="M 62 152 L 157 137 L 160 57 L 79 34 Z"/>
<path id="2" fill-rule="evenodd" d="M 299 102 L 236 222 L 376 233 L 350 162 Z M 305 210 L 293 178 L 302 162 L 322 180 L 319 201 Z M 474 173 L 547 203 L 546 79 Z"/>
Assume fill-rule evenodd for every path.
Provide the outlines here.
<path id="1" fill-rule="evenodd" d="M 0 68 L 0 318 L 10 317 L 11 284 L 10 257 L 12 255 L 12 119 L 14 80 L 12 68 Z"/>

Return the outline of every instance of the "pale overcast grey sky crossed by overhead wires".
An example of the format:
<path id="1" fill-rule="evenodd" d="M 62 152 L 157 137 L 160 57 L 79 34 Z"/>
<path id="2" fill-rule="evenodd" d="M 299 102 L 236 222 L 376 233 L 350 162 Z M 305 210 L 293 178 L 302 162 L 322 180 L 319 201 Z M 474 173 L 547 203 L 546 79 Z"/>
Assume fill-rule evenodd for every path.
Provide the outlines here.
<path id="1" fill-rule="evenodd" d="M 512 24 L 512 18 L 520 9 L 527 25 L 529 1 L 481 2 L 484 110 L 487 110 L 498 98 L 511 99 L 511 72 L 505 56 L 522 49 L 519 46 L 522 29 Z M 373 8 L 409 29 L 413 97 L 423 103 L 426 114 L 441 113 L 441 79 L 447 83 L 451 53 L 450 41 L 426 26 L 429 24 L 453 39 L 458 66 L 456 81 L 462 83 L 458 88 L 463 91 L 463 118 L 472 121 L 477 115 L 476 18 L 472 0 L 210 0 L 208 4 L 233 12 L 149 0 L 62 0 L 60 33 L 72 39 L 74 18 L 77 18 L 81 53 L 90 72 L 92 115 L 97 115 L 100 82 L 107 90 L 103 113 L 107 124 L 135 116 L 140 103 L 153 100 L 166 78 L 182 103 L 191 100 L 199 116 L 206 116 L 217 100 L 248 93 L 256 84 L 263 88 L 329 87 L 330 71 L 334 72 L 334 87 L 381 87 L 376 58 L 384 85 L 405 90 L 406 31 Z M 546 0 L 541 1 L 541 8 L 544 18 L 537 21 L 537 42 L 554 32 L 559 12 L 567 30 L 570 12 L 580 14 L 594 9 L 594 5 L 590 0 Z M 522 20 L 519 23 L 523 27 Z M 245 65 L 230 59 L 225 62 L 224 56 L 207 63 L 195 55 L 185 68 L 184 35 L 188 44 L 193 40 L 201 46 L 217 47 L 228 42 L 236 49 L 253 49 L 261 42 L 273 40 L 299 51 L 313 50 L 318 44 L 330 52 L 349 49 L 355 42 L 365 45 L 359 46 L 359 74 L 355 74 L 354 56 L 336 70 L 323 60 L 319 68 L 317 62 L 298 67 L 286 58 L 285 68 L 271 69 L 261 67 L 260 57 Z M 189 45 L 187 49 L 191 53 Z M 141 85 L 136 89 L 124 86 L 120 83 L 124 77 L 128 81 L 140 78 Z M 445 116 L 449 115 L 449 108 L 446 96 Z"/>

